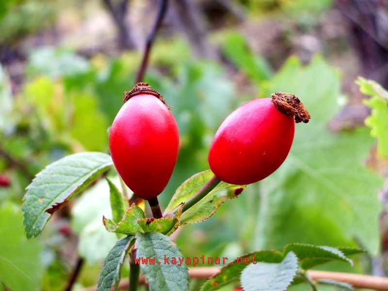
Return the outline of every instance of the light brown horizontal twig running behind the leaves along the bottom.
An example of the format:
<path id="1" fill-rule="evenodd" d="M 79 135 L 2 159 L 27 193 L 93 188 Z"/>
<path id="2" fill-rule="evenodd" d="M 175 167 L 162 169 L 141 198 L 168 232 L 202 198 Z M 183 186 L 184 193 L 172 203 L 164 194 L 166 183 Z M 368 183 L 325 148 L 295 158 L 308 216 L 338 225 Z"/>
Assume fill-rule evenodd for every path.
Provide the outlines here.
<path id="1" fill-rule="evenodd" d="M 220 272 L 216 267 L 195 267 L 189 268 L 189 275 L 192 279 L 208 279 L 211 276 L 217 275 Z M 356 288 L 374 289 L 374 290 L 388 290 L 388 278 L 377 277 L 371 275 L 349 274 L 339 272 L 326 272 L 326 271 L 307 271 L 307 274 L 312 280 L 319 279 L 332 279 L 339 282 L 345 282 L 351 284 Z M 146 278 L 140 276 L 139 284 L 146 284 Z M 118 286 L 119 290 L 128 288 L 128 279 L 121 280 Z M 83 291 L 96 291 L 97 287 L 90 287 Z"/>

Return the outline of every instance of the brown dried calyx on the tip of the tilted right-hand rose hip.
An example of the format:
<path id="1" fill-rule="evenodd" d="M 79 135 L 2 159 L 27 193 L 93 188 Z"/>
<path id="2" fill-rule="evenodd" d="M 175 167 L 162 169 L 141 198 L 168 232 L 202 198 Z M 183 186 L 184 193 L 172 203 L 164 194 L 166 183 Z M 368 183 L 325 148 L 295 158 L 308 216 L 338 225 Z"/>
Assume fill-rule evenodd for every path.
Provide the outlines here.
<path id="1" fill-rule="evenodd" d="M 277 110 L 288 116 L 295 118 L 295 123 L 304 122 L 307 123 L 310 119 L 305 106 L 298 97 L 290 93 L 276 92 L 271 95 L 272 103 L 275 105 Z"/>

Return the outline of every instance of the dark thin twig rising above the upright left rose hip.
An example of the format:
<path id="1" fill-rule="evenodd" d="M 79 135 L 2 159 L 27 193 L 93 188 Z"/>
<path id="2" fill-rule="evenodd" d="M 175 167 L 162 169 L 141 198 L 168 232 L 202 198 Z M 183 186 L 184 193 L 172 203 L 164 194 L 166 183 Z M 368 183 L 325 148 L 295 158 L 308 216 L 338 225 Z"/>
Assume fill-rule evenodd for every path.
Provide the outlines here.
<path id="1" fill-rule="evenodd" d="M 160 0 L 158 16 L 156 17 L 154 27 L 152 28 L 151 32 L 147 36 L 146 48 L 144 50 L 143 60 L 142 60 L 142 63 L 140 65 L 140 69 L 137 73 L 135 83 L 141 82 L 143 80 L 144 74 L 146 73 L 149 53 L 151 51 L 151 47 L 152 47 L 152 44 L 154 42 L 155 35 L 158 32 L 158 30 L 162 24 L 163 17 L 166 13 L 166 10 L 167 10 L 167 5 L 168 5 L 168 0 Z"/>

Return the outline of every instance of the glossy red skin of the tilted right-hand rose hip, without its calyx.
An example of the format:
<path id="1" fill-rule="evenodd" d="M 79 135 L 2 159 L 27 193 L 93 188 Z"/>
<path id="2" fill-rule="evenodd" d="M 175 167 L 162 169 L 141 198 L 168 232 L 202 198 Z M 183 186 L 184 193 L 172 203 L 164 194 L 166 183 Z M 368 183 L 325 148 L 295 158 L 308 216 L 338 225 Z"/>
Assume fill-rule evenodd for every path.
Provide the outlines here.
<path id="1" fill-rule="evenodd" d="M 245 103 L 217 130 L 209 151 L 210 169 L 231 184 L 262 180 L 286 159 L 294 131 L 294 118 L 278 111 L 271 98 Z"/>

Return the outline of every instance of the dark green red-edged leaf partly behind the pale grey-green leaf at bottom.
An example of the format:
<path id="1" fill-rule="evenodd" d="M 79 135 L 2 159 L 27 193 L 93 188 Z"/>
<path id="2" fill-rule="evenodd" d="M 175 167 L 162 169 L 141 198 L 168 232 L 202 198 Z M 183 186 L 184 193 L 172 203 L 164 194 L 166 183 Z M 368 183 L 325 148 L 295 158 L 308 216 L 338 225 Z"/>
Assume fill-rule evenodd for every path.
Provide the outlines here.
<path id="1" fill-rule="evenodd" d="M 221 268 L 220 273 L 205 282 L 201 291 L 218 290 L 230 283 L 238 282 L 241 272 L 249 264 L 249 262 L 245 263 L 245 259 L 249 259 L 250 262 L 254 260 L 255 262 L 280 263 L 283 258 L 283 254 L 278 251 L 258 251 L 243 255 Z"/>

